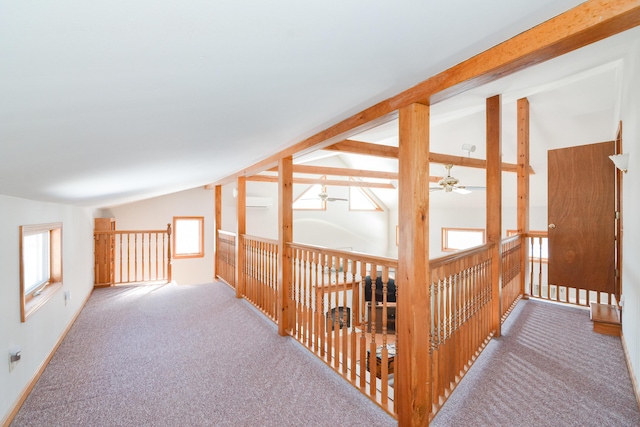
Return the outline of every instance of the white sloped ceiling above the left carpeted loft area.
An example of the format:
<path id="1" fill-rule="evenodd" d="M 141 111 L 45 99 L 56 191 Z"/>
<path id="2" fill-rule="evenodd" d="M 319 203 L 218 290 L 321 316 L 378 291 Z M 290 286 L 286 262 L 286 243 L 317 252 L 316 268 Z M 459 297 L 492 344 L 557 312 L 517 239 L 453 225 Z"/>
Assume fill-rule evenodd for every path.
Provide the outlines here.
<path id="1" fill-rule="evenodd" d="M 0 0 L 0 194 L 103 207 L 204 185 L 579 3 Z M 536 111 L 617 58 L 484 92 Z"/>

